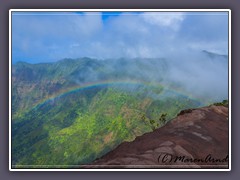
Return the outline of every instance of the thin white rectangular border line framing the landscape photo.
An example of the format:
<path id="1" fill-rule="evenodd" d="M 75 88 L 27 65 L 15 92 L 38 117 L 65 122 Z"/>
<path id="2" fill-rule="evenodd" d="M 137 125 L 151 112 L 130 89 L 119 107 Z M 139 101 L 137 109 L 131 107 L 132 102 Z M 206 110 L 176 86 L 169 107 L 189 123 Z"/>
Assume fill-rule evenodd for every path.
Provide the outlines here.
<path id="1" fill-rule="evenodd" d="M 12 13 L 13 12 L 227 12 L 228 13 L 228 101 L 229 101 L 229 164 L 226 169 L 17 169 L 12 168 L 11 122 L 12 122 Z M 9 171 L 231 171 L 231 9 L 10 9 L 9 10 Z"/>

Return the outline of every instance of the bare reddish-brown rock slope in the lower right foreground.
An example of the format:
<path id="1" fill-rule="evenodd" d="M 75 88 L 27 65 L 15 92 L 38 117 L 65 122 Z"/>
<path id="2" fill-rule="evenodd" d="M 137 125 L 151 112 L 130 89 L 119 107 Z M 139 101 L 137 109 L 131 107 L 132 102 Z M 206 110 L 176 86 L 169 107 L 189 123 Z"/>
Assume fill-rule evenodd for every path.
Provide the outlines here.
<path id="1" fill-rule="evenodd" d="M 227 168 L 228 132 L 227 107 L 184 110 L 165 126 L 122 143 L 85 167 Z"/>

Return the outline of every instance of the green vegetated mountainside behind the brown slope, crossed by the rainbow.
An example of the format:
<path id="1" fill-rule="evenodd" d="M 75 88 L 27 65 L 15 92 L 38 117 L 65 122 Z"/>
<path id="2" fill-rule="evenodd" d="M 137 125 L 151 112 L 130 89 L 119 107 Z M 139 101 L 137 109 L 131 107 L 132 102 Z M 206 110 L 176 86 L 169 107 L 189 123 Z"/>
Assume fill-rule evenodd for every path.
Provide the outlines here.
<path id="1" fill-rule="evenodd" d="M 164 59 L 13 65 L 12 164 L 69 168 L 90 163 L 164 125 L 180 110 L 204 105 L 166 87 L 167 73 Z"/>

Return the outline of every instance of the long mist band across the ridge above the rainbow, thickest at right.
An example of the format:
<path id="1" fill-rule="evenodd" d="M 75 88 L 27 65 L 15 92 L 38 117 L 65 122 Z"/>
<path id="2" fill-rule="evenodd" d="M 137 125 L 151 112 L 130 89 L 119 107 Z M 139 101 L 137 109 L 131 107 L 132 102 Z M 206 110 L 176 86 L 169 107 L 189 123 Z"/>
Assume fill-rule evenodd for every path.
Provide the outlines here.
<path id="1" fill-rule="evenodd" d="M 204 103 L 228 99 L 228 57 L 208 51 L 181 52 L 165 58 L 120 58 L 92 60 L 74 75 L 81 85 L 99 81 L 139 82 L 117 85 L 137 92 L 142 84 L 163 86 Z M 101 71 L 99 71 L 101 69 Z M 122 86 L 122 87 L 121 87 Z M 167 94 L 157 94 L 148 89 L 148 96 L 160 99 Z"/>

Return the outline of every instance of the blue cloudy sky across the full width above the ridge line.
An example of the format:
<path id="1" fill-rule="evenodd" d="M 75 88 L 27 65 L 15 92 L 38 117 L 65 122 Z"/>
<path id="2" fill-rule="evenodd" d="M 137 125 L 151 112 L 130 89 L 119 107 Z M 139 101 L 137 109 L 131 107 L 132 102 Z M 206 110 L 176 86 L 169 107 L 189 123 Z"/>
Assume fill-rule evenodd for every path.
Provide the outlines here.
<path id="1" fill-rule="evenodd" d="M 226 13 L 18 12 L 12 19 L 13 62 L 228 53 Z"/>

